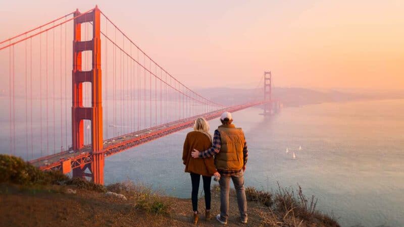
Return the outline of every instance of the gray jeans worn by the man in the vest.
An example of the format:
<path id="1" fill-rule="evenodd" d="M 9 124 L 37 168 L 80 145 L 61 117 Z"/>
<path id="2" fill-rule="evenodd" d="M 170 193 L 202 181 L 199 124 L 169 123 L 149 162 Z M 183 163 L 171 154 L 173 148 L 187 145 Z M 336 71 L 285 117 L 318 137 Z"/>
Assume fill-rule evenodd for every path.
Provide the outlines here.
<path id="1" fill-rule="evenodd" d="M 244 191 L 244 172 L 242 171 L 235 176 L 221 176 L 220 178 L 220 216 L 225 221 L 227 221 L 227 218 L 229 217 L 230 178 L 233 181 L 234 188 L 236 189 L 240 217 L 241 219 L 245 219 L 247 217 L 247 200 L 245 198 Z"/>

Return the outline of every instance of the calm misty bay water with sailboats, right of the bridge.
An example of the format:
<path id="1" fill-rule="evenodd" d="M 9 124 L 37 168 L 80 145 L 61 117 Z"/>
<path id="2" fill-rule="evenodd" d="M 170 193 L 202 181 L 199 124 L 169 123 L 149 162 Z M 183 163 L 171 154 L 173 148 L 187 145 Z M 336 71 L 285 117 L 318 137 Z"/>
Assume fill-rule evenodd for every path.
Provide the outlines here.
<path id="1" fill-rule="evenodd" d="M 276 190 L 277 182 L 299 184 L 342 226 L 404 225 L 404 100 L 288 107 L 269 118 L 261 112 L 233 114 L 249 148 L 246 186 Z M 213 133 L 219 121 L 210 124 Z M 131 179 L 189 198 L 191 182 L 181 157 L 190 130 L 108 157 L 106 184 Z M 293 151 L 297 160 L 291 159 Z"/>

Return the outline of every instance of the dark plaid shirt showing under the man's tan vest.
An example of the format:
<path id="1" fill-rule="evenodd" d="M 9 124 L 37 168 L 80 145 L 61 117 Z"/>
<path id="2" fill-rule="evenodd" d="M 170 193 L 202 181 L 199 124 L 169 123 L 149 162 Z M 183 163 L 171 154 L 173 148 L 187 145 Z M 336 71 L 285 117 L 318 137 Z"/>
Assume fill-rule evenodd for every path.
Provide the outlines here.
<path id="1" fill-rule="evenodd" d="M 217 153 L 220 152 L 220 148 L 222 147 L 222 140 L 220 138 L 220 133 L 219 130 L 215 130 L 215 134 L 213 135 L 213 146 L 209 148 L 206 151 L 199 152 L 199 158 L 208 158 L 216 155 Z M 244 143 L 243 147 L 243 159 L 244 159 L 244 166 L 247 163 L 247 157 L 248 157 L 248 149 L 247 149 L 247 142 Z M 224 170 L 224 169 L 218 169 L 218 172 L 226 177 L 234 176 L 242 171 L 242 168 L 239 170 Z"/>

